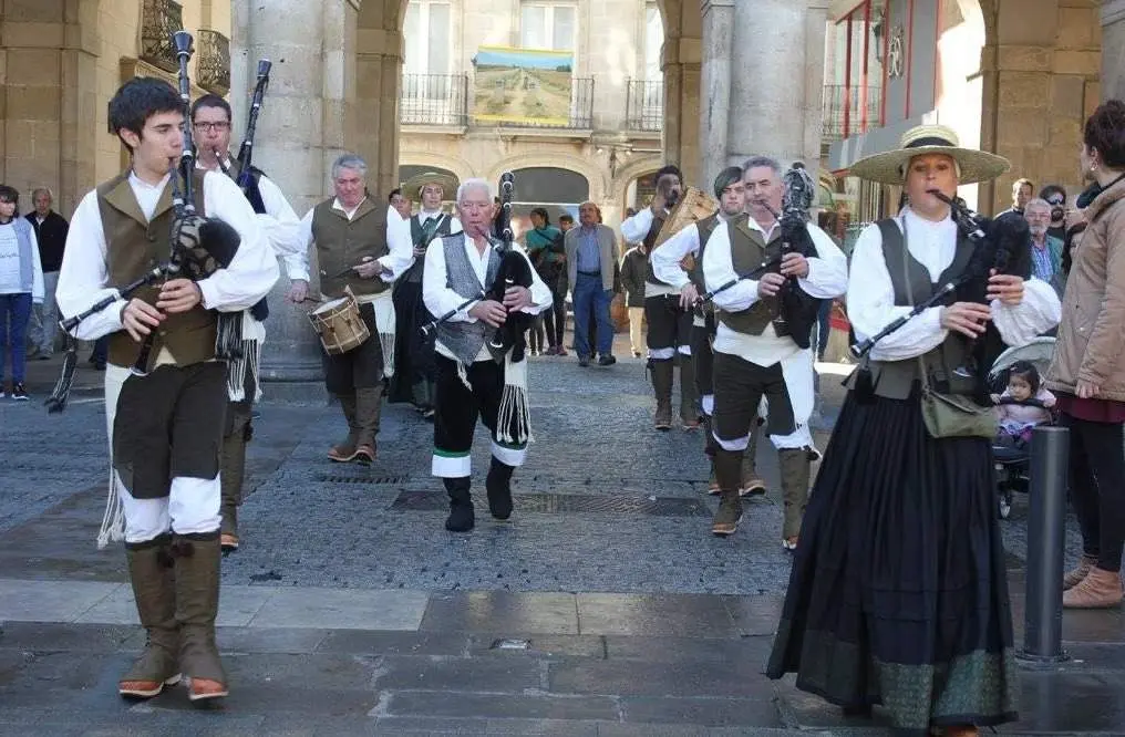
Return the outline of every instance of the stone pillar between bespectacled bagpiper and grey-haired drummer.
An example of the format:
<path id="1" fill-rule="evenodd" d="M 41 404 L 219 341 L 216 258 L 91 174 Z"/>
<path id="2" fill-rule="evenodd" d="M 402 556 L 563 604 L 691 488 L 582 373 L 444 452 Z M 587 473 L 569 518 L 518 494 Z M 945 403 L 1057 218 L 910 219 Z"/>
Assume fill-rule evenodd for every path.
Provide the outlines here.
<path id="1" fill-rule="evenodd" d="M 286 3 L 285 12 L 278 12 L 271 3 L 234 0 L 232 10 L 234 140 L 241 140 L 258 60 L 269 58 L 273 69 L 258 119 L 254 164 L 278 183 L 297 217 L 303 217 L 331 192 L 332 161 L 348 147 L 356 9 L 349 0 L 324 0 Z M 315 254 L 310 258 L 315 293 Z M 323 397 L 320 342 L 305 316 L 307 306 L 300 309 L 284 301 L 288 288 L 282 275 L 269 298 L 262 377 L 271 385 L 264 391 L 273 399 L 318 399 Z"/>

